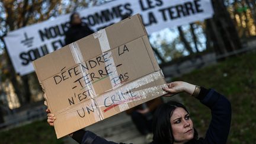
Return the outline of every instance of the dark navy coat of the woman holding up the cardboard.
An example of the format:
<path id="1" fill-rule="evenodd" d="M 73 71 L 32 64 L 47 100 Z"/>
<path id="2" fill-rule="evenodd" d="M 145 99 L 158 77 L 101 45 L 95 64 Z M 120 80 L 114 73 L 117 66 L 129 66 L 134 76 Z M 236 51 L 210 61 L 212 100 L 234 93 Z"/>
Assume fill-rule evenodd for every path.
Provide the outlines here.
<path id="1" fill-rule="evenodd" d="M 210 126 L 204 138 L 191 140 L 188 143 L 225 144 L 228 139 L 231 125 L 231 103 L 223 95 L 213 89 L 207 90 L 204 95 L 199 95 L 198 99 L 202 104 L 210 108 L 212 112 L 212 120 L 210 121 Z M 117 144 L 84 130 L 76 131 L 73 133 L 72 138 L 77 142 L 84 144 Z M 152 144 L 159 143 L 152 142 Z"/>

